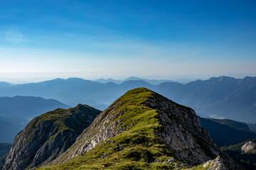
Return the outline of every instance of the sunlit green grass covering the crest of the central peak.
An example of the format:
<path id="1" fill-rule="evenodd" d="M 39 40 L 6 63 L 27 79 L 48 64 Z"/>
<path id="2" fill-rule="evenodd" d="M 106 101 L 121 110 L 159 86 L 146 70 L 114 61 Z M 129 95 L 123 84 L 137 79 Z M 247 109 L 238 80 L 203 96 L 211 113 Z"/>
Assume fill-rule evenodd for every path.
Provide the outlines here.
<path id="1" fill-rule="evenodd" d="M 69 162 L 39 169 L 172 169 L 174 164 L 166 164 L 174 157 L 168 147 L 155 135 L 161 129 L 156 110 L 146 107 L 149 98 L 161 97 L 148 89 L 128 91 L 112 106 L 119 105 L 111 113 L 124 112 L 117 120 L 122 120 L 124 132 L 119 133 L 94 149 Z M 181 162 L 176 162 L 181 164 Z"/>

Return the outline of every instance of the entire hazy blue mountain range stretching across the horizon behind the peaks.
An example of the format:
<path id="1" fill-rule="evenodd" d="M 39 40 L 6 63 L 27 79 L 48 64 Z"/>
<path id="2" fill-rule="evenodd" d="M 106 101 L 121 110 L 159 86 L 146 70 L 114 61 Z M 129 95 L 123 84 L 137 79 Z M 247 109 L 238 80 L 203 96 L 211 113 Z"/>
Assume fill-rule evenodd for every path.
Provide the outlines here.
<path id="1" fill-rule="evenodd" d="M 190 106 L 202 117 L 256 123 L 256 77 L 213 77 L 188 84 L 164 82 L 159 85 L 149 84 L 142 79 L 127 80 L 122 84 L 103 84 L 78 78 L 53 79 L 31 84 L 7 84 L 0 86 L 0 94 L 41 96 L 54 98 L 70 106 L 84 103 L 104 110 L 125 91 L 137 87 L 146 87 L 173 101 Z"/>

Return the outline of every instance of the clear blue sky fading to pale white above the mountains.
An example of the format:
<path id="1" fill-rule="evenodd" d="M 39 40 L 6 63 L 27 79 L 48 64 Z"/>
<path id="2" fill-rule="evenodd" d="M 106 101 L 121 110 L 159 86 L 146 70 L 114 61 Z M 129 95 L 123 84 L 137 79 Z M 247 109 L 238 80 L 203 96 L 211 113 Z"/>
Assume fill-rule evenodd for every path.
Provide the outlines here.
<path id="1" fill-rule="evenodd" d="M 0 81 L 256 76 L 255 8 L 255 0 L 0 0 Z"/>

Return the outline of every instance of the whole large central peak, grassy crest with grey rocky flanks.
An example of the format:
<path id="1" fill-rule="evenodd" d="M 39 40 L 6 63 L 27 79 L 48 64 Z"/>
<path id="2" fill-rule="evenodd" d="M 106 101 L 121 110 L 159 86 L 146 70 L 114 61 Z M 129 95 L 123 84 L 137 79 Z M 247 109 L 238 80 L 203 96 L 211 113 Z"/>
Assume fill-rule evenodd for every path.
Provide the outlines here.
<path id="1" fill-rule="evenodd" d="M 209 161 L 210 160 L 210 161 Z M 196 113 L 148 89 L 128 91 L 75 143 L 38 169 L 242 169 L 220 152 Z"/>

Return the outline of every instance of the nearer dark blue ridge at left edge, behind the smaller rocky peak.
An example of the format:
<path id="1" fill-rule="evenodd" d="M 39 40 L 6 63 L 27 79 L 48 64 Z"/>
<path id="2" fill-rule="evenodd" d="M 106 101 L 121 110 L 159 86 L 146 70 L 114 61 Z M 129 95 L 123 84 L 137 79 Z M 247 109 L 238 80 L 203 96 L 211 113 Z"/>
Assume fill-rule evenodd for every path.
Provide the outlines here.
<path id="1" fill-rule="evenodd" d="M 12 142 L 27 123 L 42 113 L 70 106 L 31 96 L 0 97 L 0 142 Z"/>

